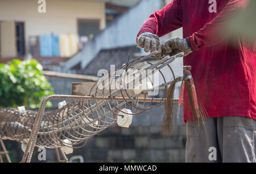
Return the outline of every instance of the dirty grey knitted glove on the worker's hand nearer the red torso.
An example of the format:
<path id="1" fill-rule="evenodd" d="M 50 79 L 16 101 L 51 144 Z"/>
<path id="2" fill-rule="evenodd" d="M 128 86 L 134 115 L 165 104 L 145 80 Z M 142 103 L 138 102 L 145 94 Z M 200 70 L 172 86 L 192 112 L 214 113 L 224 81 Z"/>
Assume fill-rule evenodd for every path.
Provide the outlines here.
<path id="1" fill-rule="evenodd" d="M 174 56 L 180 52 L 184 52 L 184 56 L 187 56 L 193 51 L 187 42 L 187 38 L 186 39 L 171 38 L 166 42 L 164 42 L 164 44 L 162 45 L 162 52 L 164 56 L 167 56 L 167 55 Z"/>

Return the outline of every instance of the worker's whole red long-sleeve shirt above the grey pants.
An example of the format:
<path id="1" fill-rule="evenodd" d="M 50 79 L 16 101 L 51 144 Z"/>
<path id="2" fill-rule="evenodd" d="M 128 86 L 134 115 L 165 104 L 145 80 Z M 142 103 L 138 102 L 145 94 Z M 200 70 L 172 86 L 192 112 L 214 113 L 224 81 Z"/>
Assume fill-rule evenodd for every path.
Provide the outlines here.
<path id="1" fill-rule="evenodd" d="M 210 13 L 209 0 L 172 0 L 143 23 L 142 32 L 163 36 L 183 27 L 183 37 L 193 52 L 184 57 L 192 66 L 199 102 L 209 117 L 241 116 L 256 119 L 256 45 L 243 36 L 230 38 L 224 26 L 246 0 L 217 0 L 217 13 Z M 213 7 L 213 6 L 211 6 Z M 187 92 L 184 121 L 191 117 Z"/>

